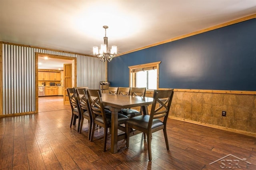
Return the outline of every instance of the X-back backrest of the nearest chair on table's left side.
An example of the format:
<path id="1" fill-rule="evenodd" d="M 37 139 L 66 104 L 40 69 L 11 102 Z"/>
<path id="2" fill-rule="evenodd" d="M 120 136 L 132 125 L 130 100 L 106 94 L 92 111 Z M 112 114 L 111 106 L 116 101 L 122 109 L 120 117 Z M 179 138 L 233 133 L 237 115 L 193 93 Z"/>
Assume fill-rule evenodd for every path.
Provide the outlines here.
<path id="1" fill-rule="evenodd" d="M 87 89 L 85 95 L 88 96 L 92 118 L 95 119 L 97 115 L 102 115 L 103 121 L 104 123 L 106 123 L 106 116 L 104 111 L 104 105 L 102 103 L 102 94 L 100 90 Z"/>

